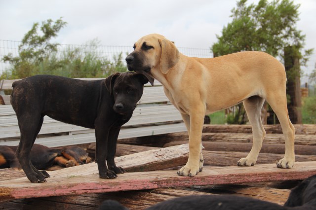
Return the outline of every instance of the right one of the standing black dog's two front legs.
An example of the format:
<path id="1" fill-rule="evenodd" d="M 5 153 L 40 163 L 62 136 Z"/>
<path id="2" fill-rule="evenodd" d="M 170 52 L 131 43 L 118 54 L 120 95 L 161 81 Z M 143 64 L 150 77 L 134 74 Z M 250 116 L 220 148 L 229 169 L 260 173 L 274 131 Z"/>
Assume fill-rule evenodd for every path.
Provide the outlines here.
<path id="1" fill-rule="evenodd" d="M 117 152 L 117 142 L 118 134 L 120 131 L 120 126 L 110 130 L 108 138 L 108 156 L 107 164 L 111 171 L 114 171 L 116 174 L 124 174 L 125 170 L 121 167 L 117 167 L 114 161 L 115 153 Z"/>

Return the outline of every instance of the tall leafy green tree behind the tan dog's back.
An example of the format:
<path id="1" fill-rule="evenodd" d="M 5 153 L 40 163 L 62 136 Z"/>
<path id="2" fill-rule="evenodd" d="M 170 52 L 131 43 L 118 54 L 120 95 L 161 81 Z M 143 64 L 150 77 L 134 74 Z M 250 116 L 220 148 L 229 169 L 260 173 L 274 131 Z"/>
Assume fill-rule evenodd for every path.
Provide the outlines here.
<path id="1" fill-rule="evenodd" d="M 223 28 L 221 36 L 216 35 L 218 41 L 211 47 L 214 57 L 255 50 L 283 58 L 284 49 L 290 48 L 292 51 L 288 56 L 298 58 L 298 64 L 305 65 L 313 49 L 305 50 L 304 55 L 302 53 L 305 35 L 296 29 L 300 4 L 294 4 L 293 0 L 260 0 L 257 5 L 247 6 L 246 2 L 237 1 L 237 7 L 232 9 L 232 22 Z M 287 77 L 297 80 L 299 67 L 293 66 L 292 69 L 287 71 Z M 244 113 L 240 111 L 240 114 Z"/>

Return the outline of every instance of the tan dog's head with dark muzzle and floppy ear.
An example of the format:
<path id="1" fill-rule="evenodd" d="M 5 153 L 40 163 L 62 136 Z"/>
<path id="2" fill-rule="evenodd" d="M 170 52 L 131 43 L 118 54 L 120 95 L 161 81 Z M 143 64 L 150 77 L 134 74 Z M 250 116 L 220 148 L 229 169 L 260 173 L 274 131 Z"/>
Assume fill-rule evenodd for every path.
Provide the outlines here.
<path id="1" fill-rule="evenodd" d="M 125 60 L 130 71 L 151 73 L 151 70 L 160 70 L 166 74 L 179 57 L 180 53 L 171 41 L 162 35 L 151 34 L 140 38 Z"/>

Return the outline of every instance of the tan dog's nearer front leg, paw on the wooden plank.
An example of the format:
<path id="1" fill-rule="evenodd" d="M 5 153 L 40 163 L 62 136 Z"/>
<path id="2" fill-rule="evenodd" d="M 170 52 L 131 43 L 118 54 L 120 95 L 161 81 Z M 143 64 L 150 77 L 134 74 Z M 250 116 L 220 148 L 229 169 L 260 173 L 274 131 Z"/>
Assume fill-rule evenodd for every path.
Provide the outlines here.
<path id="1" fill-rule="evenodd" d="M 191 110 L 192 114 L 190 115 L 190 130 L 189 134 L 189 159 L 187 164 L 178 171 L 178 175 L 183 176 L 195 176 L 198 172 L 202 171 L 203 168 L 203 156 L 201 153 L 201 138 L 202 138 L 202 129 L 204 122 L 204 113 L 202 110 Z M 187 118 L 188 119 L 188 118 Z M 185 120 L 185 119 L 184 119 Z M 188 128 L 188 126 L 187 126 Z"/>

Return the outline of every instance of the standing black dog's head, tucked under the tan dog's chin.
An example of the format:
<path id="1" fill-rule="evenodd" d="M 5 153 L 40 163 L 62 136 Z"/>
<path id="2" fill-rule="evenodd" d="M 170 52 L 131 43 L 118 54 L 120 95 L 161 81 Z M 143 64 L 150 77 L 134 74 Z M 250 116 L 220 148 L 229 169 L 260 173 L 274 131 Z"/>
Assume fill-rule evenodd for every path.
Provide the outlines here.
<path id="1" fill-rule="evenodd" d="M 105 85 L 114 97 L 114 111 L 132 112 L 143 95 L 144 84 L 149 79 L 142 72 L 115 73 L 105 79 Z"/>

